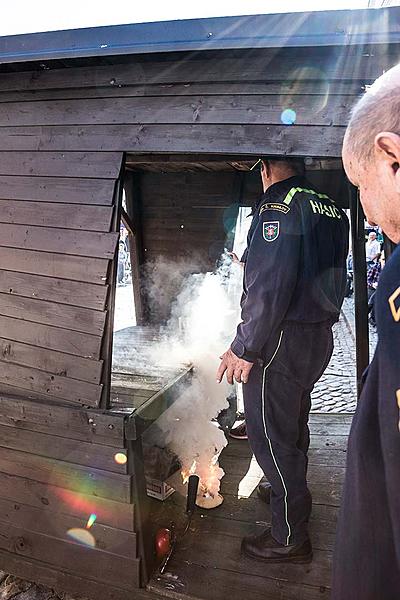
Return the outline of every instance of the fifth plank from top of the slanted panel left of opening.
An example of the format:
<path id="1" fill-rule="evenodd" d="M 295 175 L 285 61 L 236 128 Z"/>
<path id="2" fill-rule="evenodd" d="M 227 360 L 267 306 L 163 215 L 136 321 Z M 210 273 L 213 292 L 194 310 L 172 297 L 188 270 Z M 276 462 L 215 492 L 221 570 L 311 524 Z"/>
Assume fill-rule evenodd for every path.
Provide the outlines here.
<path id="1" fill-rule="evenodd" d="M 108 260 L 80 256 L 36 252 L 19 248 L 1 248 L 1 267 L 4 270 L 32 273 L 84 283 L 106 284 Z M 83 289 L 83 288 L 82 288 Z M 97 298 L 97 294 L 94 296 Z"/>

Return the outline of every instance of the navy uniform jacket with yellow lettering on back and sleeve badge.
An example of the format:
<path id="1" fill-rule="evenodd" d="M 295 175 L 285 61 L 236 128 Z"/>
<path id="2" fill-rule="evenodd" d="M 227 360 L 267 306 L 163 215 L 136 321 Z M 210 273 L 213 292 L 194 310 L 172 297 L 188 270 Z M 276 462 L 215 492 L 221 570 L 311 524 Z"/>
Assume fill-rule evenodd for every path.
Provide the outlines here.
<path id="1" fill-rule="evenodd" d="M 254 361 L 283 321 L 337 321 L 347 253 L 347 217 L 328 196 L 303 177 L 268 188 L 243 257 L 242 323 L 232 351 Z"/>

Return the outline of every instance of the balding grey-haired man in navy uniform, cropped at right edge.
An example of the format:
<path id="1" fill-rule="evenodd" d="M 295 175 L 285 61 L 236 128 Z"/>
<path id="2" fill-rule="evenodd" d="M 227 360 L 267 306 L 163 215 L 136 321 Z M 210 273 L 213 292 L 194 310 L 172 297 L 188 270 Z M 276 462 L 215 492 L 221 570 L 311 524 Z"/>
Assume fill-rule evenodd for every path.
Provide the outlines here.
<path id="1" fill-rule="evenodd" d="M 343 145 L 371 224 L 400 242 L 400 66 L 353 110 Z M 400 248 L 376 292 L 379 343 L 353 419 L 334 560 L 333 600 L 400 598 Z"/>

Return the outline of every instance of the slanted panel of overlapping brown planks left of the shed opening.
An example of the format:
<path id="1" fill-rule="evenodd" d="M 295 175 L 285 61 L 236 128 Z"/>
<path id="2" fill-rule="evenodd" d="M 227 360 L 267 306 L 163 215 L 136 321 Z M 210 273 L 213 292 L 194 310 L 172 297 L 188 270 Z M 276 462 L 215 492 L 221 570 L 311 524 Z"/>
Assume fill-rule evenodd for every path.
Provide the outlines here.
<path id="1" fill-rule="evenodd" d="M 99 405 L 121 162 L 0 152 L 0 393 Z"/>

